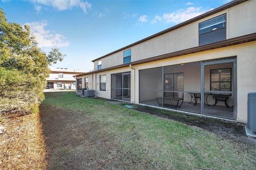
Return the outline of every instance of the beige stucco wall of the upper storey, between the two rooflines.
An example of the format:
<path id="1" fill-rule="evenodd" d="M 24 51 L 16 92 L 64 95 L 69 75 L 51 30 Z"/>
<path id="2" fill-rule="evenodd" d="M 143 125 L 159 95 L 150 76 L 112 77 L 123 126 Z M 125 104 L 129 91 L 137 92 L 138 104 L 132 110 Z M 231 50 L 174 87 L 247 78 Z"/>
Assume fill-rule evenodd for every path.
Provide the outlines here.
<path id="1" fill-rule="evenodd" d="M 225 13 L 227 39 L 252 34 L 256 30 L 255 9 L 256 0 L 249 0 L 146 42 L 134 45 L 127 48 L 132 51 L 131 61 L 198 46 L 198 24 Z M 99 59 L 102 60 L 102 69 L 123 64 L 123 51 Z M 98 70 L 98 60 L 94 61 L 94 70 Z"/>

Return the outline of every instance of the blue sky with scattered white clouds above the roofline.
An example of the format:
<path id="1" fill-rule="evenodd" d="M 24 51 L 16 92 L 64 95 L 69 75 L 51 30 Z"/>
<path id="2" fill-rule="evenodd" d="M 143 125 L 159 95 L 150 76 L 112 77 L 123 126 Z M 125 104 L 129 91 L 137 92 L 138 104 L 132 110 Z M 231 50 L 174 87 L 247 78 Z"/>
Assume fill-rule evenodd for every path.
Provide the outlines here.
<path id="1" fill-rule="evenodd" d="M 92 60 L 232 0 L 0 0 L 8 22 L 28 24 L 38 46 L 66 54 L 50 68 L 92 71 Z"/>

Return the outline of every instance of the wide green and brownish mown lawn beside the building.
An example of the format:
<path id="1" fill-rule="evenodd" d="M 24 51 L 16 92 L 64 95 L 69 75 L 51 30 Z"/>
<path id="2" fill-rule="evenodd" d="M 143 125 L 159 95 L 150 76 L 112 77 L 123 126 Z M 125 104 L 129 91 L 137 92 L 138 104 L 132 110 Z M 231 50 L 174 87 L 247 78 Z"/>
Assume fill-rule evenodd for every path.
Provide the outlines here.
<path id="1" fill-rule="evenodd" d="M 40 107 L 48 169 L 256 169 L 256 150 L 214 133 L 75 93 Z"/>

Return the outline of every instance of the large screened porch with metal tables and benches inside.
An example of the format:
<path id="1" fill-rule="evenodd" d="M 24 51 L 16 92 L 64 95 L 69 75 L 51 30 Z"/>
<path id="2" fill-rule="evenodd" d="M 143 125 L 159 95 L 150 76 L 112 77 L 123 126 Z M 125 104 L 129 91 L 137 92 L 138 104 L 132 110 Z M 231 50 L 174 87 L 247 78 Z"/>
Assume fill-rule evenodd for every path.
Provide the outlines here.
<path id="1" fill-rule="evenodd" d="M 236 119 L 235 62 L 231 58 L 140 70 L 139 103 Z"/>

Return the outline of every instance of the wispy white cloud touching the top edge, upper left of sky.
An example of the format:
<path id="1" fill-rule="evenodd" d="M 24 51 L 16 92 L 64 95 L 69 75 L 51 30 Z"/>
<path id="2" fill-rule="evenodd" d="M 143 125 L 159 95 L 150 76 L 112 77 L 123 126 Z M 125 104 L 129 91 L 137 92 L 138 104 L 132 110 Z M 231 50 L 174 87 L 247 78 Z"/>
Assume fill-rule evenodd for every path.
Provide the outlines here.
<path id="1" fill-rule="evenodd" d="M 56 8 L 57 10 L 67 10 L 71 9 L 73 7 L 80 7 L 84 12 L 87 12 L 87 9 L 91 8 L 91 4 L 88 3 L 87 1 L 82 1 L 82 0 L 30 0 L 33 4 L 35 4 L 35 9 L 41 10 L 36 6 L 39 6 L 39 4 L 44 5 L 44 6 L 51 6 L 53 8 Z"/>

